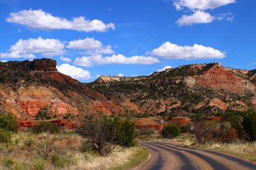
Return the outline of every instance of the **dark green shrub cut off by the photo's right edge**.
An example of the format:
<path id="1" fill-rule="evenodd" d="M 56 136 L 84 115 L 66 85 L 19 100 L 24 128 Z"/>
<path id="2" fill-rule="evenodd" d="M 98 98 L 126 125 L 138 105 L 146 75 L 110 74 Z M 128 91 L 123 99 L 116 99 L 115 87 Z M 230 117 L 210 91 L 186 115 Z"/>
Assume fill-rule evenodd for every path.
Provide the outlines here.
<path id="1" fill-rule="evenodd" d="M 256 110 L 246 111 L 243 120 L 243 127 L 250 140 L 256 141 Z"/>

